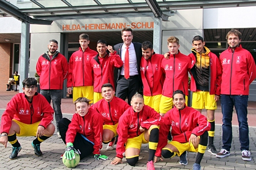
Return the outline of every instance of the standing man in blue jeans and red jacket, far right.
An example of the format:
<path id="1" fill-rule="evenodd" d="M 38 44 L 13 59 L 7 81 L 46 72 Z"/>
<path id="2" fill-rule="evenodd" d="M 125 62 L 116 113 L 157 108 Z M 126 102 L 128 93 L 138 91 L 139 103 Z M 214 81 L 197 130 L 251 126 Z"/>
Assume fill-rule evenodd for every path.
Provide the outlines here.
<path id="1" fill-rule="evenodd" d="M 251 161 L 249 151 L 249 128 L 247 122 L 247 103 L 249 85 L 256 78 L 256 67 L 253 56 L 240 44 L 241 32 L 231 29 L 226 35 L 229 48 L 220 55 L 221 78 L 221 111 L 222 111 L 222 149 L 217 158 L 230 155 L 232 143 L 233 108 L 239 122 L 239 140 L 242 160 Z"/>

